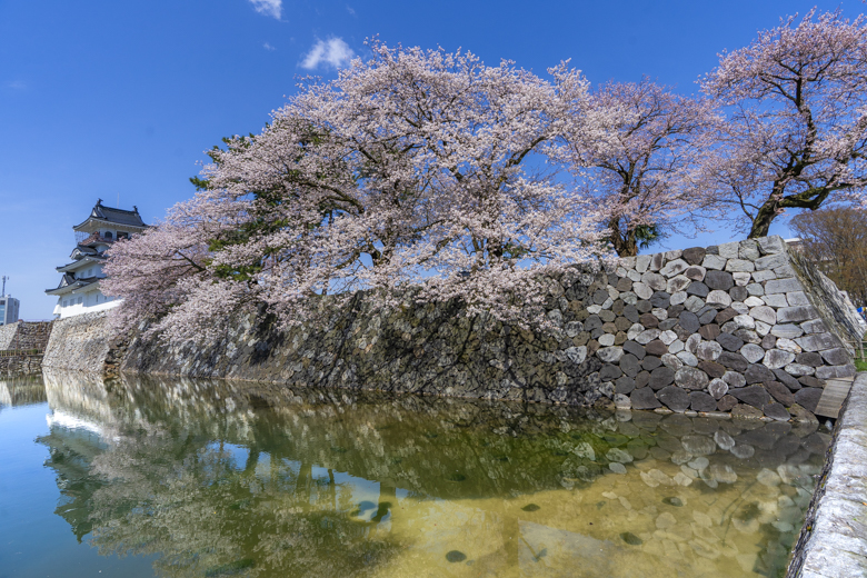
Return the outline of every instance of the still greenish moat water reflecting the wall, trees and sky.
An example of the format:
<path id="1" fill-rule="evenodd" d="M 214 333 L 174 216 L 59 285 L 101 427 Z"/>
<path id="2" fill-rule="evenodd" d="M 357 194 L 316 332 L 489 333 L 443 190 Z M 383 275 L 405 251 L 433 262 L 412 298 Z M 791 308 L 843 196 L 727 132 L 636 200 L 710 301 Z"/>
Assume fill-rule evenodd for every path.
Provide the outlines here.
<path id="1" fill-rule="evenodd" d="M 0 379 L 0 578 L 783 576 L 817 426 Z"/>

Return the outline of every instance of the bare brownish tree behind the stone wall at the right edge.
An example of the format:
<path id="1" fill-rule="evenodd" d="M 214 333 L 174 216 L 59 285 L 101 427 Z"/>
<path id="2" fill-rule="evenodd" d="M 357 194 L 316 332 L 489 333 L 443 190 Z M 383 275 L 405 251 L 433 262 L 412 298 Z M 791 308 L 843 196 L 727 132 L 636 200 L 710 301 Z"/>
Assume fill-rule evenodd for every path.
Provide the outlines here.
<path id="1" fill-rule="evenodd" d="M 847 291 L 857 307 L 867 306 L 867 213 L 853 207 L 804 212 L 790 226 L 804 256 Z"/>

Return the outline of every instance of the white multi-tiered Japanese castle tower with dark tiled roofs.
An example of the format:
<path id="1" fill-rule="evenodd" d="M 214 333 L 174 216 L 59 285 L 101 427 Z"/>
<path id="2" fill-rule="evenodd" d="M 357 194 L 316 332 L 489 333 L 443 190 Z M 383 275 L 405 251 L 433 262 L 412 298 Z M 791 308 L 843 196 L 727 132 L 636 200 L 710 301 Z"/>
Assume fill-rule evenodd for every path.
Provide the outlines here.
<path id="1" fill-rule="evenodd" d="M 104 207 L 99 199 L 84 222 L 72 227 L 76 248 L 70 255 L 72 262 L 57 268 L 63 273 L 60 285 L 46 290 L 47 295 L 58 298 L 54 315 L 64 319 L 117 306 L 118 301 L 102 295 L 99 288 L 100 279 L 106 277 L 102 272 L 106 250 L 119 239 L 128 239 L 147 227 L 137 207 L 133 206 L 131 211 L 112 209 Z"/>

